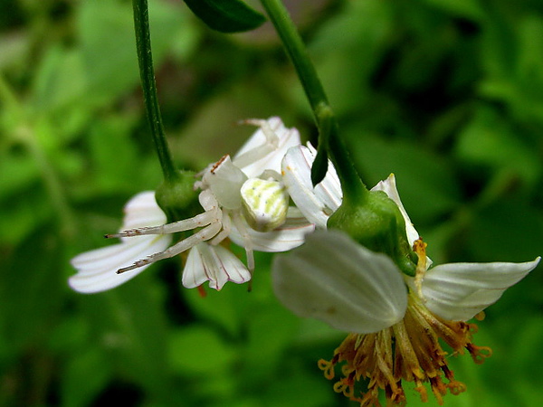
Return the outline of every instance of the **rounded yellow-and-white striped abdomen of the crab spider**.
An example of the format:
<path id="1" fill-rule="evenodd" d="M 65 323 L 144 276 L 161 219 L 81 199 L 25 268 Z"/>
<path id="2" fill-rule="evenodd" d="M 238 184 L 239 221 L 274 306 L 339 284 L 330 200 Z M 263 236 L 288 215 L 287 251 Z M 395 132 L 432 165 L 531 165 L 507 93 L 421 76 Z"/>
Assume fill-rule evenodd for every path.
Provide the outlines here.
<path id="1" fill-rule="evenodd" d="M 241 189 L 243 215 L 257 232 L 270 232 L 287 218 L 289 195 L 277 181 L 250 178 Z"/>

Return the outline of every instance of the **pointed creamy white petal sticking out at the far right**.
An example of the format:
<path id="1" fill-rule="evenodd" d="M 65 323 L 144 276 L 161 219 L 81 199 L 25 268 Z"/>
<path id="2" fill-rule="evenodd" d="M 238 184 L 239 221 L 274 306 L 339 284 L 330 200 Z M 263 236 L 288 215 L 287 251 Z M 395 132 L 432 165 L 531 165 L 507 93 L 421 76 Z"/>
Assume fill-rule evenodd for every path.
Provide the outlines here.
<path id="1" fill-rule="evenodd" d="M 449 263 L 426 272 L 423 296 L 434 314 L 452 321 L 466 321 L 496 302 L 540 258 L 525 263 Z"/>

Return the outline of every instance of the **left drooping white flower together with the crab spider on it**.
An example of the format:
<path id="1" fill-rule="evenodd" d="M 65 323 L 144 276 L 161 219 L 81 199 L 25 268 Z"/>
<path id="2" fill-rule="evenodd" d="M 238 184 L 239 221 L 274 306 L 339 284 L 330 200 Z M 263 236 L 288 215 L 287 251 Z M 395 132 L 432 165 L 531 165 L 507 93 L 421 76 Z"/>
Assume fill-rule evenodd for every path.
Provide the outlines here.
<path id="1" fill-rule="evenodd" d="M 259 130 L 233 159 L 224 156 L 200 173 L 201 179 L 195 182 L 195 189 L 201 191 L 198 200 L 203 213 L 166 223 L 153 193 L 146 193 L 145 211 L 133 213 L 129 203 L 127 218 L 135 221 L 125 222 L 121 232 L 108 235 L 121 238 L 119 245 L 82 253 L 72 260 L 79 272 L 71 277 L 71 287 L 81 292 L 111 289 L 151 263 L 189 251 L 183 285 L 195 288 L 209 281 L 211 288 L 222 289 L 226 281 L 243 283 L 251 279 L 252 251 L 287 251 L 299 246 L 315 226 L 295 207 L 289 207 L 280 175 L 282 157 L 290 147 L 300 144 L 298 130 L 285 128 L 280 118 L 246 122 Z M 149 219 L 146 211 L 156 216 Z M 188 231 L 194 232 L 168 247 L 171 233 Z M 247 266 L 219 246 L 226 238 L 245 248 Z M 138 251 L 137 241 L 160 244 L 149 243 Z M 85 286 L 77 283 L 83 277 L 90 281 Z M 92 283 L 99 280 L 100 284 Z"/>

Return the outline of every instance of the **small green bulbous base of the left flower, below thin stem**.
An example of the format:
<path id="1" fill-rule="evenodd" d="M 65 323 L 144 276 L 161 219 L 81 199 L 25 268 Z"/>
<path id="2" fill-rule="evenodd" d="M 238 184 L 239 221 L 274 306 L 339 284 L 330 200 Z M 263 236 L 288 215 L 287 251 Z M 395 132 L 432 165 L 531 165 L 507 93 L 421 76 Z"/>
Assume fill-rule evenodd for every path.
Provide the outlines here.
<path id="1" fill-rule="evenodd" d="M 158 185 L 157 204 L 167 214 L 168 222 L 176 222 L 202 212 L 198 192 L 194 189 L 195 173 L 179 171 L 175 182 Z"/>

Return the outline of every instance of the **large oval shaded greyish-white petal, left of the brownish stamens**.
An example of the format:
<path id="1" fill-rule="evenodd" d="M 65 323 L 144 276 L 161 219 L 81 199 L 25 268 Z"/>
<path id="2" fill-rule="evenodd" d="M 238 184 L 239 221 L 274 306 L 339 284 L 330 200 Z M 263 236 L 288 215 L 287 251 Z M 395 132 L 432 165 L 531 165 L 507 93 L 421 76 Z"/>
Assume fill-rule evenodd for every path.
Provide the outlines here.
<path id="1" fill-rule="evenodd" d="M 275 294 L 300 317 L 367 334 L 405 315 L 407 294 L 400 270 L 384 254 L 368 251 L 343 232 L 317 231 L 272 266 Z"/>

